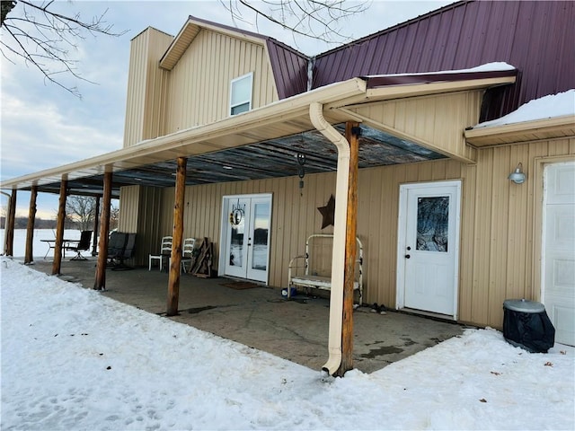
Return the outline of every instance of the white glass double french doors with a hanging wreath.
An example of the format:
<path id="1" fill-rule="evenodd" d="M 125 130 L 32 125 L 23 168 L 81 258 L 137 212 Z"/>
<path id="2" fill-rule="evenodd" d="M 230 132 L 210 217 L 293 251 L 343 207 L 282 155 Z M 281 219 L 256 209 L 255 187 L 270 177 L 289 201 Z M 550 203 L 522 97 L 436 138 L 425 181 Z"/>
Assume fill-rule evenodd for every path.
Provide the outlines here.
<path id="1" fill-rule="evenodd" d="M 226 196 L 222 205 L 224 275 L 268 282 L 271 195 Z"/>

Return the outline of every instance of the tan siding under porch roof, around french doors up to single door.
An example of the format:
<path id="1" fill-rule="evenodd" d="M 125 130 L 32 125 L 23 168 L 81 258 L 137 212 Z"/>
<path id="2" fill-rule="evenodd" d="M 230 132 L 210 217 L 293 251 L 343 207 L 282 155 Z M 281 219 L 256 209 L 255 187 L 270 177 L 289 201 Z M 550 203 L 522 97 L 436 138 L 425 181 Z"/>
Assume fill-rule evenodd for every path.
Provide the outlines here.
<path id="1" fill-rule="evenodd" d="M 358 177 L 358 236 L 364 245 L 364 298 L 367 303 L 393 305 L 399 184 L 420 180 L 453 180 L 462 177 L 462 163 L 440 160 L 431 163 L 402 164 L 362 169 Z M 222 198 L 229 195 L 271 193 L 270 286 L 288 284 L 288 263 L 305 251 L 305 240 L 312 233 L 333 233 L 333 226 L 321 229 L 324 207 L 335 196 L 334 172 L 305 175 L 304 188 L 299 178 L 286 177 L 188 186 L 185 193 L 184 237 L 214 242 L 219 258 Z M 174 189 L 164 189 L 161 232 L 173 226 Z M 170 204 L 168 204 L 170 203 Z"/>

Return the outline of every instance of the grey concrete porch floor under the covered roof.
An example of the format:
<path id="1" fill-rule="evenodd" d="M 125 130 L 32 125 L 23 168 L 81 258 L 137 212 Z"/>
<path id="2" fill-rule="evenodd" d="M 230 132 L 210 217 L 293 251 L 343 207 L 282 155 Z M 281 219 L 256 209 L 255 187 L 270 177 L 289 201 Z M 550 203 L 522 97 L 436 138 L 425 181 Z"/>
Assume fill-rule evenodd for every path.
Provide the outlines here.
<path id="1" fill-rule="evenodd" d="M 62 260 L 62 279 L 92 288 L 95 258 Z M 52 262 L 39 259 L 32 268 L 51 273 Z M 328 358 L 329 300 L 296 295 L 291 300 L 279 289 L 257 286 L 234 289 L 233 280 L 182 275 L 179 315 L 173 321 L 232 339 L 289 361 L 320 370 Z M 106 271 L 102 295 L 165 315 L 167 273 L 135 268 Z M 372 373 L 420 350 L 461 334 L 464 326 L 403 312 L 354 312 L 354 367 Z"/>

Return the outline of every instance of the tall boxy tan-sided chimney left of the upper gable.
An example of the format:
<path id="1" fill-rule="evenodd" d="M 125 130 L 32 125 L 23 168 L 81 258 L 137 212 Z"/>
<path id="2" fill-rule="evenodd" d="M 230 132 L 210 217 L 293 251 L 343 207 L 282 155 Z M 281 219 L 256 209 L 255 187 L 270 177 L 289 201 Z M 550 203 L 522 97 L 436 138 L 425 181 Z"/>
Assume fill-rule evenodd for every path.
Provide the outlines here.
<path id="1" fill-rule="evenodd" d="M 131 42 L 124 147 L 162 135 L 168 72 L 158 66 L 173 36 L 148 27 Z"/>

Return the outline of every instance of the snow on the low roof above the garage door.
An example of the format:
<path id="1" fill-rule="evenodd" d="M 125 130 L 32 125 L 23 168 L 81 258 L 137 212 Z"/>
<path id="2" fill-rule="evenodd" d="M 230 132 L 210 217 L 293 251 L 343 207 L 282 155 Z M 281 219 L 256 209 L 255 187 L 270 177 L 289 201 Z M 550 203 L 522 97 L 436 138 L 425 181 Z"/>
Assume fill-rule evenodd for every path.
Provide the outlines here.
<path id="1" fill-rule="evenodd" d="M 485 121 L 473 128 L 492 128 L 524 121 L 535 121 L 537 119 L 554 119 L 568 115 L 575 115 L 575 90 L 573 89 L 528 101 L 517 110 L 500 119 Z"/>

